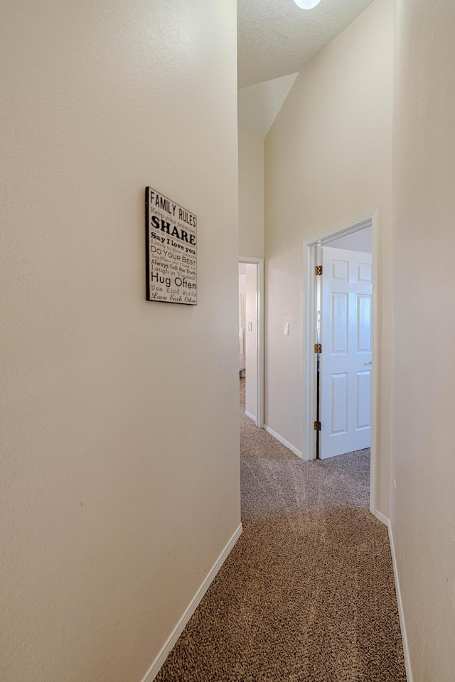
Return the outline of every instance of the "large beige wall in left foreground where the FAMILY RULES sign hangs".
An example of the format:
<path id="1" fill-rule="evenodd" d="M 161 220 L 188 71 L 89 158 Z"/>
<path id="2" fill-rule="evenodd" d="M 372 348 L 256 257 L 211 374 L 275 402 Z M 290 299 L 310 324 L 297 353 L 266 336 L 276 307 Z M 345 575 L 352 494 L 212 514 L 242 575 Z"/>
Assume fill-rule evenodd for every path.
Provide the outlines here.
<path id="1" fill-rule="evenodd" d="M 4 8 L 2 680 L 139 682 L 240 524 L 235 8 Z M 196 307 L 144 300 L 148 184 Z"/>

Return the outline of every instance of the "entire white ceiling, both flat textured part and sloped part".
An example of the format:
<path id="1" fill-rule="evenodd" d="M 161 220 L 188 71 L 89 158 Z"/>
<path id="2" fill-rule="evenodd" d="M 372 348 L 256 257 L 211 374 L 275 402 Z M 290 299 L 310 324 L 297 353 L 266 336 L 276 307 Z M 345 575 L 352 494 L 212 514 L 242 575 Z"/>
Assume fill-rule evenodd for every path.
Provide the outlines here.
<path id="1" fill-rule="evenodd" d="M 239 125 L 265 137 L 301 67 L 373 0 L 237 0 Z"/>

